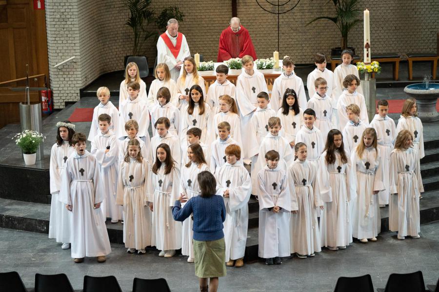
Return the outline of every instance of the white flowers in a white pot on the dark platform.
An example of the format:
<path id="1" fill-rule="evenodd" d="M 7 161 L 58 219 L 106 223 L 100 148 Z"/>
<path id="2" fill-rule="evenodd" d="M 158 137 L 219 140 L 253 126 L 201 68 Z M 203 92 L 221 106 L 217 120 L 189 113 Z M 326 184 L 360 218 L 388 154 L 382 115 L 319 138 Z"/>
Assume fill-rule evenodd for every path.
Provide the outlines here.
<path id="1" fill-rule="evenodd" d="M 37 131 L 24 130 L 17 133 L 12 139 L 15 139 L 15 144 L 23 151 L 24 163 L 33 165 L 37 159 L 37 149 L 45 138 Z"/>

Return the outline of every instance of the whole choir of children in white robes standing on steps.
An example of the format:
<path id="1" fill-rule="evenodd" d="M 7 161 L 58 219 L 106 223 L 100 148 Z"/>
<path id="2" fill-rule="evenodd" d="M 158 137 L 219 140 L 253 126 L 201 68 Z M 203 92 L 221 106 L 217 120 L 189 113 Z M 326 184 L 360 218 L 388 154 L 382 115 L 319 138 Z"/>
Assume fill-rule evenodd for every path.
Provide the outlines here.
<path id="1" fill-rule="evenodd" d="M 259 256 L 267 264 L 344 249 L 353 237 L 376 241 L 379 207 L 387 204 L 390 230 L 399 239 L 419 238 L 424 151 L 416 101 L 404 102 L 396 127 L 380 100 L 369 123 L 352 58 L 343 51 L 333 73 L 316 54 L 309 100 L 288 56 L 271 97 L 249 55 L 236 86 L 219 65 L 207 92 L 192 57 L 177 82 L 158 64 L 148 94 L 129 63 L 119 110 L 106 87 L 97 91 L 88 138 L 69 121 L 57 124 L 49 238 L 71 247 L 75 262 L 103 262 L 111 252 L 105 220 L 123 220 L 128 253 L 156 246 L 159 256 L 172 257 L 181 248 L 193 262 L 193 218 L 181 224 L 172 208 L 200 194 L 197 177 L 206 170 L 226 207 L 227 266 L 243 265 L 251 194 L 259 201 Z"/>

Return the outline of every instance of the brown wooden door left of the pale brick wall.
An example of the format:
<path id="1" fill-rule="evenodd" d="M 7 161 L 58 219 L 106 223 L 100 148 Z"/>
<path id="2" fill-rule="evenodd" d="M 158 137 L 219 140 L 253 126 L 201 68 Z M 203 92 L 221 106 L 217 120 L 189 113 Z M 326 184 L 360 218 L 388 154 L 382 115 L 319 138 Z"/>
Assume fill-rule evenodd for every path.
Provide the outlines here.
<path id="1" fill-rule="evenodd" d="M 0 1 L 0 82 L 29 75 L 46 74 L 49 77 L 47 36 L 44 10 L 34 10 L 32 0 Z M 19 123 L 20 102 L 24 91 L 11 91 L 11 87 L 24 87 L 25 81 L 0 85 L 0 128 Z M 43 87 L 44 77 L 29 82 L 30 87 Z M 32 103 L 40 102 L 39 92 L 31 91 Z"/>

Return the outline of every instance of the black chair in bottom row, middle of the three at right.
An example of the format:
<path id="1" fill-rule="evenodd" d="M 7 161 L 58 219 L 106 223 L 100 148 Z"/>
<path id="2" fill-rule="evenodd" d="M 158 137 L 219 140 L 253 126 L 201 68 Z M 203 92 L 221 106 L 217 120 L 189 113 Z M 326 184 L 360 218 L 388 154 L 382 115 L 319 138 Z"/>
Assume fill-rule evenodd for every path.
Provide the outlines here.
<path id="1" fill-rule="evenodd" d="M 384 292 L 425 292 L 422 272 L 390 274 Z"/>

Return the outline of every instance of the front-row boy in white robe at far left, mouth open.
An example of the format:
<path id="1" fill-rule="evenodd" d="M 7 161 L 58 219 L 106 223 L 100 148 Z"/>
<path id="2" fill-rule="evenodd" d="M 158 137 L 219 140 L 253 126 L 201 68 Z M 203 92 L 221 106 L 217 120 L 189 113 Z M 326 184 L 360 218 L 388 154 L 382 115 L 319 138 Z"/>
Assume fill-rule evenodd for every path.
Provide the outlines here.
<path id="1" fill-rule="evenodd" d="M 67 159 L 60 189 L 60 201 L 66 205 L 71 219 L 71 250 L 75 263 L 85 256 L 97 256 L 98 262 L 111 253 L 105 218 L 100 209 L 105 199 L 99 164 L 86 147 L 87 138 L 75 133 L 75 152 Z"/>

